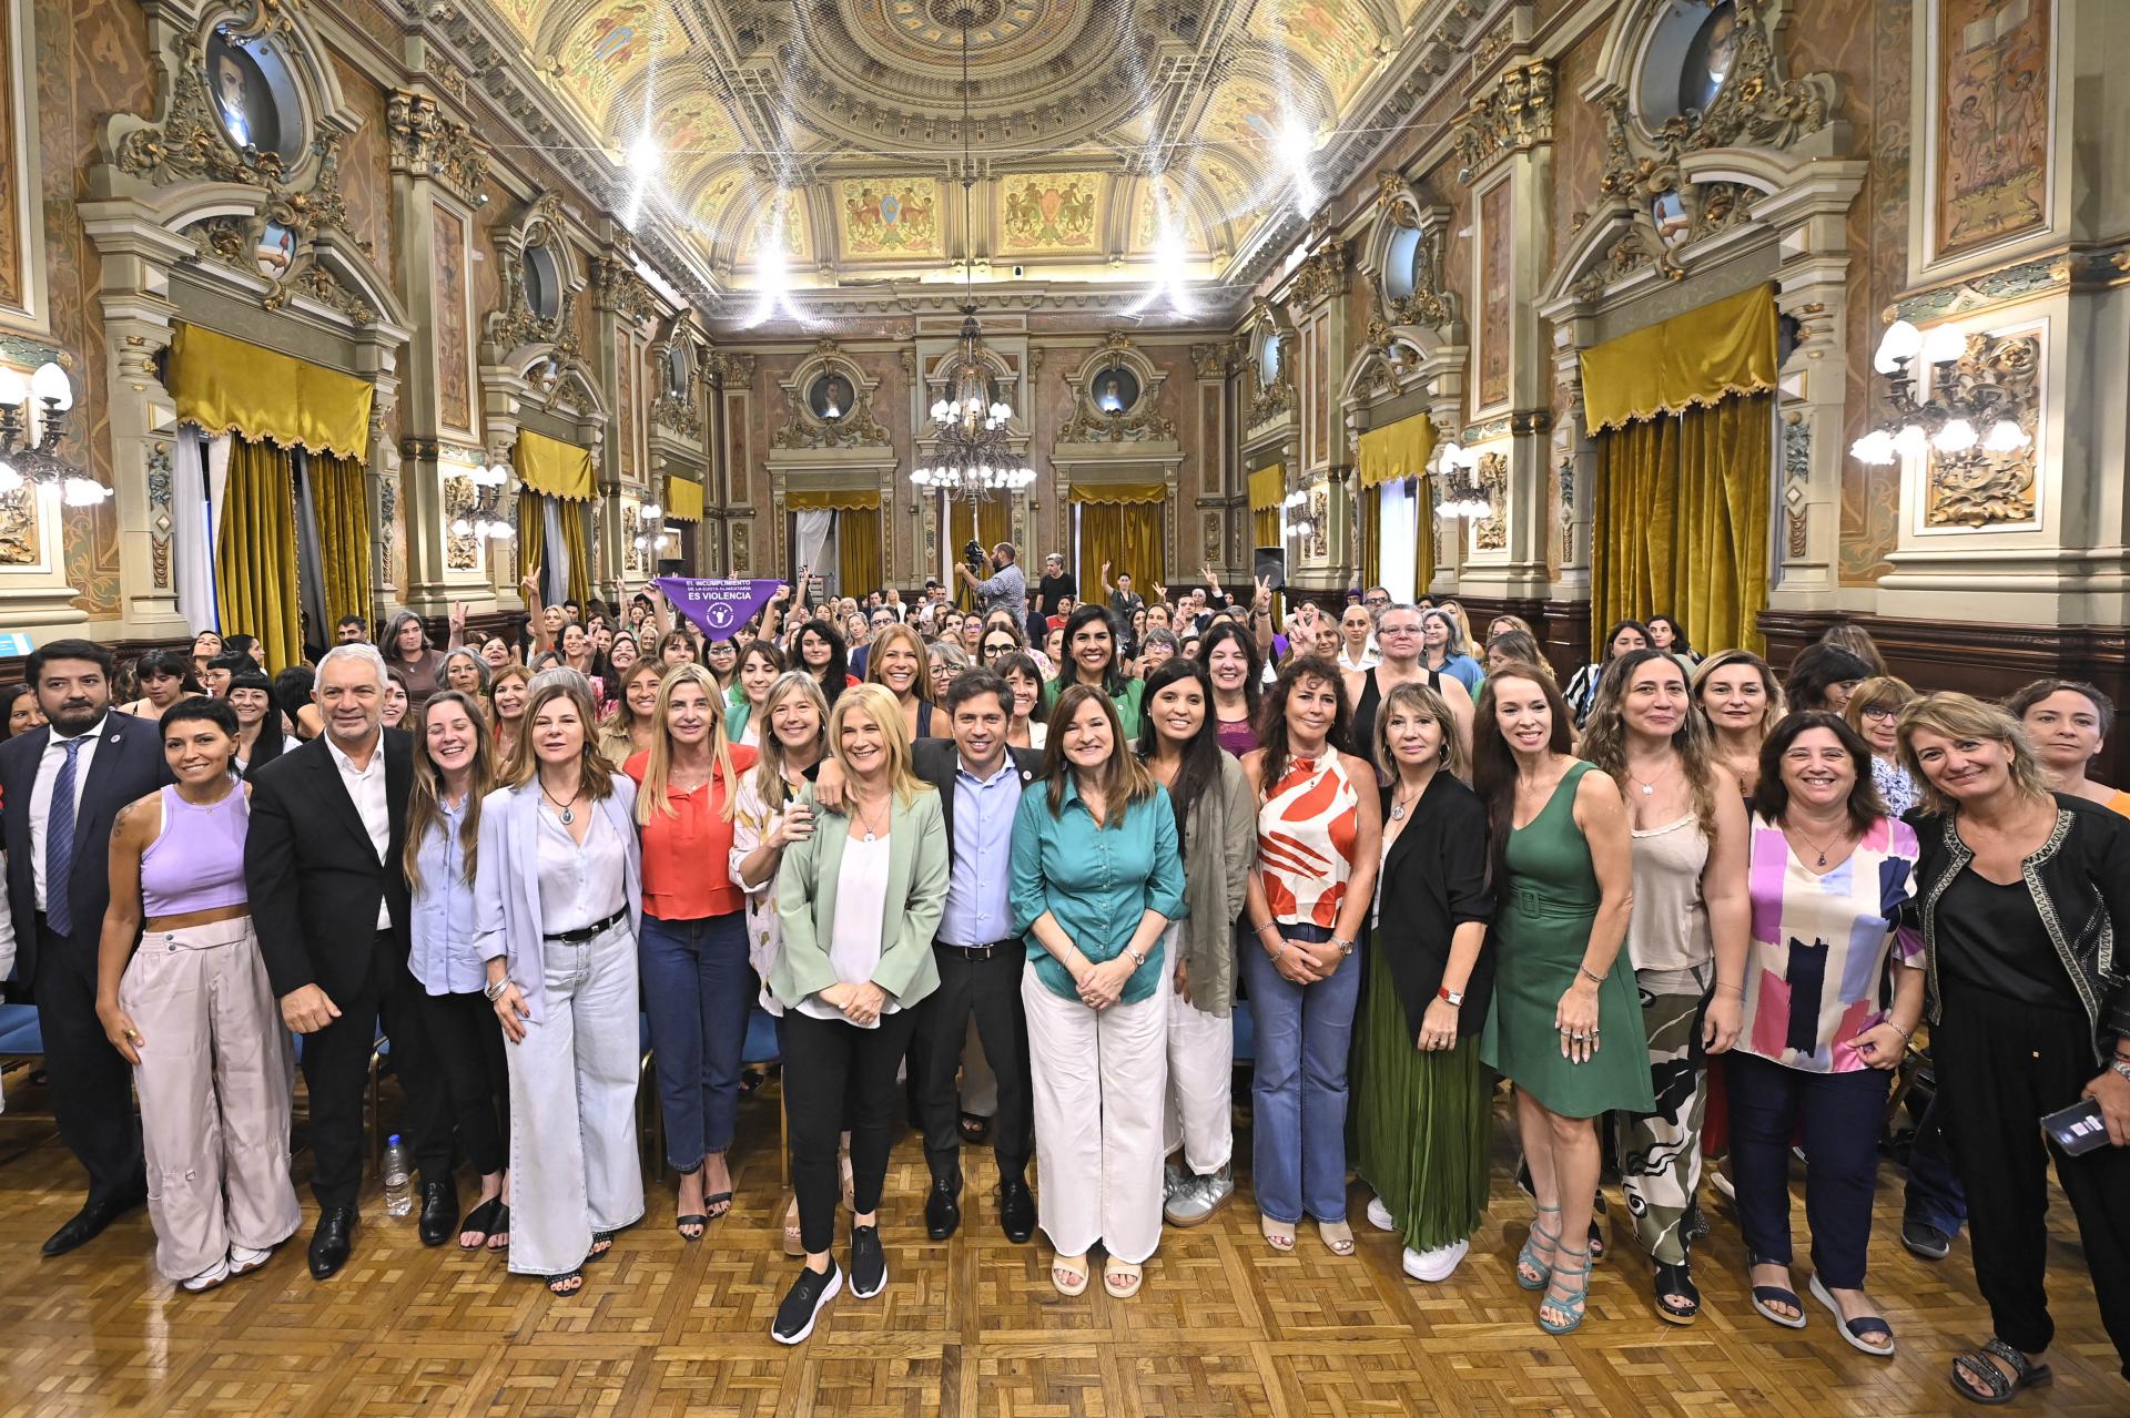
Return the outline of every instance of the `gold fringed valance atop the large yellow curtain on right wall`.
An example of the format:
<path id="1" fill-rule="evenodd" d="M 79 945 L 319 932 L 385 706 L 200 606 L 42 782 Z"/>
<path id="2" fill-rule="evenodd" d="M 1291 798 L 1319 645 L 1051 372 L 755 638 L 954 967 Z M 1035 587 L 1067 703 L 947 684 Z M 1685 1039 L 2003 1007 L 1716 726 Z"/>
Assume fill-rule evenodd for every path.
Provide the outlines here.
<path id="1" fill-rule="evenodd" d="M 1774 287 L 1713 300 L 1583 351 L 1591 432 L 1774 388 Z"/>

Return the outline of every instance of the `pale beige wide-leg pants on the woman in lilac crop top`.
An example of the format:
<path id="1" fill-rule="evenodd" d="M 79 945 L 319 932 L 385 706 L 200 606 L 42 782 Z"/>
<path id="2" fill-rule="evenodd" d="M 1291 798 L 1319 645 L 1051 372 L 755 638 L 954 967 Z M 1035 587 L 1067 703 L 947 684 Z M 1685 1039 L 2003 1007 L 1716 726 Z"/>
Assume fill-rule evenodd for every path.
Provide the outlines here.
<path id="1" fill-rule="evenodd" d="M 155 1269 L 190 1280 L 271 1250 L 302 1209 L 288 1169 L 296 1050 L 251 918 L 153 930 L 119 979 L 141 1030 L 141 1141 Z"/>

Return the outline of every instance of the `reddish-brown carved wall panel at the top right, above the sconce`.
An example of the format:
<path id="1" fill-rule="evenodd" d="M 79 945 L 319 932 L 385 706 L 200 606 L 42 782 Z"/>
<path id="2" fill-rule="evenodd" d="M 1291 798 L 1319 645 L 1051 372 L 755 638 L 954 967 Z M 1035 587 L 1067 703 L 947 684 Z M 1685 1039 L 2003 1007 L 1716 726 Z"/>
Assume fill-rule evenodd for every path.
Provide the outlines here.
<path id="1" fill-rule="evenodd" d="M 2047 226 L 2047 0 L 1938 0 L 1938 255 Z"/>

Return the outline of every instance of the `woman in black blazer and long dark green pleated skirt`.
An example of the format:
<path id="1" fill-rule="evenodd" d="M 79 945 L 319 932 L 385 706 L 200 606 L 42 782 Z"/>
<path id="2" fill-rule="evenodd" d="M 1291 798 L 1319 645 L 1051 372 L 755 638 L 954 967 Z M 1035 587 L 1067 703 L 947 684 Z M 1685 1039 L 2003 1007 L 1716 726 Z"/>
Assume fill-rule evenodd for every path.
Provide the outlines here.
<path id="1" fill-rule="evenodd" d="M 1376 1192 L 1367 1220 L 1404 1235 L 1406 1273 L 1440 1282 L 1487 1205 L 1487 807 L 1463 784 L 1451 707 L 1425 683 L 1384 696 L 1374 739 L 1391 784 L 1361 1005 L 1357 1169 Z"/>

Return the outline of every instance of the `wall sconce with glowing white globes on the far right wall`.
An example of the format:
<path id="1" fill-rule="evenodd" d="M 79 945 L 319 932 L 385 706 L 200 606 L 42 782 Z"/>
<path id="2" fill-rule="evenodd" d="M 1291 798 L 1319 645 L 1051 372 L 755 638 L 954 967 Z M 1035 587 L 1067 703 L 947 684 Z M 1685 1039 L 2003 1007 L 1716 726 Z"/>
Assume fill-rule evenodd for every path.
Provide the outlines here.
<path id="1" fill-rule="evenodd" d="M 1957 458 L 1977 445 L 1985 454 L 2017 454 L 2032 443 L 2019 422 L 2019 396 L 1996 383 L 1992 370 L 1972 358 L 1975 341 L 1983 336 L 1945 326 L 1930 334 L 1906 319 L 1887 326 L 1872 368 L 1885 375 L 1889 417 L 1851 443 L 1849 456 L 1885 466 L 1900 458 L 1921 458 L 1926 449 Z M 1932 368 L 1930 392 L 1921 398 L 1915 396 L 1917 358 Z M 1951 377 L 1945 373 L 1947 364 L 1953 366 Z"/>

